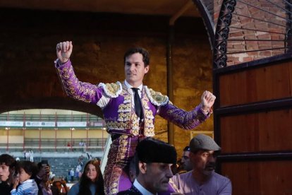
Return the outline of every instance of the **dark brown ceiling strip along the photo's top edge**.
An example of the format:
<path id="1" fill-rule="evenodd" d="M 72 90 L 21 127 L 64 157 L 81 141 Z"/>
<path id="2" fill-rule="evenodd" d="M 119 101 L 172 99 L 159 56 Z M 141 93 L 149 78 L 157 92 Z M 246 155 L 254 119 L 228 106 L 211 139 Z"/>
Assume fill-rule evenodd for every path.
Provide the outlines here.
<path id="1" fill-rule="evenodd" d="M 1 0 L 0 7 L 173 16 L 190 2 L 192 0 Z M 182 16 L 200 17 L 200 14 L 193 4 Z"/>

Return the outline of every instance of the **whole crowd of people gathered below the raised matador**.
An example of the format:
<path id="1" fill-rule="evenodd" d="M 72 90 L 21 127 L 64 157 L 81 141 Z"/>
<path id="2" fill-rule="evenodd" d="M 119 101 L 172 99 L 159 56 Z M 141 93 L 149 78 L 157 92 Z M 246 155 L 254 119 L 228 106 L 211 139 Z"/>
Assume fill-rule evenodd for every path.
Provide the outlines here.
<path id="1" fill-rule="evenodd" d="M 199 134 L 177 160 L 174 146 L 145 138 L 138 143 L 128 167 L 132 187 L 116 194 L 231 194 L 230 179 L 214 172 L 220 150 L 212 138 Z M 101 160 L 88 158 L 85 164 L 84 160 L 80 155 L 75 169 L 68 170 L 66 177 L 56 177 L 47 160 L 37 163 L 26 155 L 25 160 L 16 160 L 2 154 L 1 195 L 105 194 Z"/>

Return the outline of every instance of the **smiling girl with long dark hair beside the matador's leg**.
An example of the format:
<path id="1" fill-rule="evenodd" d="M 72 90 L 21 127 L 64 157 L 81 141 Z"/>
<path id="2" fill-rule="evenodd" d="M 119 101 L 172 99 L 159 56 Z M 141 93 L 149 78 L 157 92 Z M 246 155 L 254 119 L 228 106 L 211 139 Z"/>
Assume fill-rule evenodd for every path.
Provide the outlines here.
<path id="1" fill-rule="evenodd" d="M 77 194 L 104 194 L 104 179 L 97 160 L 86 163 L 80 182 L 71 187 L 68 195 Z"/>

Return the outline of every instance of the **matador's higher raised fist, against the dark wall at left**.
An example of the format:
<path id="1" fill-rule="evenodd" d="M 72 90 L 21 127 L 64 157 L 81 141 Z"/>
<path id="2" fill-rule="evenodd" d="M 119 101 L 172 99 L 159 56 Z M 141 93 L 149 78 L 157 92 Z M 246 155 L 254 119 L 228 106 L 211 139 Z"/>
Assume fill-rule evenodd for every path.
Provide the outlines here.
<path id="1" fill-rule="evenodd" d="M 72 54 L 73 45 L 71 41 L 59 42 L 56 45 L 56 54 L 61 63 L 66 63 Z"/>

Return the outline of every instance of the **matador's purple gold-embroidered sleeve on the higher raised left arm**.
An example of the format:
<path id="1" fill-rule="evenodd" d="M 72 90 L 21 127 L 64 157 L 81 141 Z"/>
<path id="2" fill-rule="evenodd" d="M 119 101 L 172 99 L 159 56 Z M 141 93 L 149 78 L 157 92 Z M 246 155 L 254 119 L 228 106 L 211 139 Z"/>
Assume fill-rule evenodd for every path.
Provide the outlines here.
<path id="1" fill-rule="evenodd" d="M 57 60 L 55 61 L 55 66 L 63 90 L 69 97 L 93 104 L 97 104 L 99 99 L 102 98 L 102 88 L 98 88 L 97 85 L 91 83 L 78 81 L 70 60 L 62 65 L 59 65 L 59 61 Z"/>

